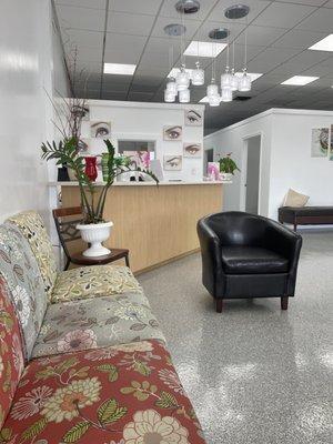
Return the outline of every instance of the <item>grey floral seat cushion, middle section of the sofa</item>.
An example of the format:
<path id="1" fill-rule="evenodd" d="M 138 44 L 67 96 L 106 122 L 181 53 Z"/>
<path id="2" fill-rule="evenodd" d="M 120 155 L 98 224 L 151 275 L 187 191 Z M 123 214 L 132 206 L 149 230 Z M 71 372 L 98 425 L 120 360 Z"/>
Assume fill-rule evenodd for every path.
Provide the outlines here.
<path id="1" fill-rule="evenodd" d="M 32 356 L 157 339 L 164 342 L 143 293 L 51 304 Z"/>

